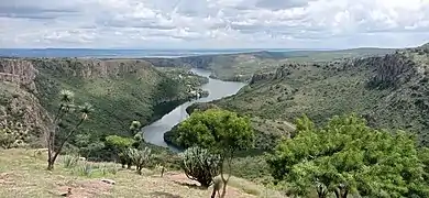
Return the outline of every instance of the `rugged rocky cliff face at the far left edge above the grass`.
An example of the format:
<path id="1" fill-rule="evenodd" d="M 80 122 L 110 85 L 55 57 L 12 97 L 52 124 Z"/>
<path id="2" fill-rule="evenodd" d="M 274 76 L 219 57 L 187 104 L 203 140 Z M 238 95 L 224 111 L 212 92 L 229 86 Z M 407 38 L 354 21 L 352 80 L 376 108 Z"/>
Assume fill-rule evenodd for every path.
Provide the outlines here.
<path id="1" fill-rule="evenodd" d="M 37 90 L 34 79 L 37 70 L 31 62 L 0 59 L 0 128 L 16 135 L 12 145 L 29 142 L 44 144 L 43 134 L 51 119 L 33 95 Z"/>

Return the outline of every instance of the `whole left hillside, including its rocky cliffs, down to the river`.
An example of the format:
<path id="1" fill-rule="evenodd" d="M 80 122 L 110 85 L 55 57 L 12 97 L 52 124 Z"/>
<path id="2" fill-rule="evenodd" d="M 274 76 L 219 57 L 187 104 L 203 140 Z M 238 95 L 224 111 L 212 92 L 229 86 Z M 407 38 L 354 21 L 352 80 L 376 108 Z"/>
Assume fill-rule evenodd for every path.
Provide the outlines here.
<path id="1" fill-rule="evenodd" d="M 136 59 L 1 58 L 0 74 L 3 117 L 32 125 L 31 134 L 40 140 L 59 90 L 74 91 L 76 103 L 91 103 L 94 114 L 72 142 L 78 146 L 109 134 L 128 135 L 131 121 L 148 124 L 188 99 L 188 81 L 193 87 L 204 82 L 186 74 L 187 80 L 175 79 L 174 72 Z"/>

